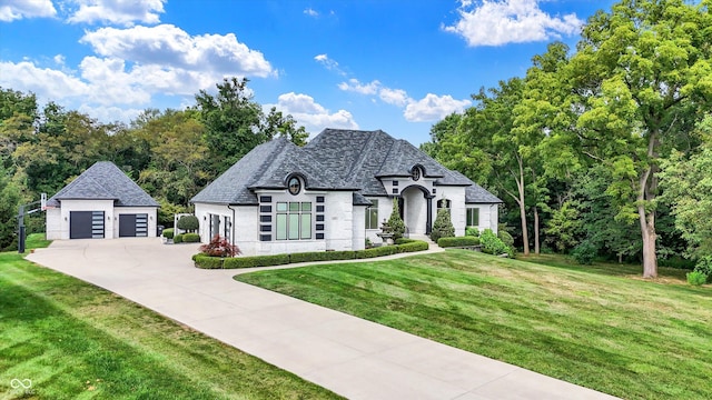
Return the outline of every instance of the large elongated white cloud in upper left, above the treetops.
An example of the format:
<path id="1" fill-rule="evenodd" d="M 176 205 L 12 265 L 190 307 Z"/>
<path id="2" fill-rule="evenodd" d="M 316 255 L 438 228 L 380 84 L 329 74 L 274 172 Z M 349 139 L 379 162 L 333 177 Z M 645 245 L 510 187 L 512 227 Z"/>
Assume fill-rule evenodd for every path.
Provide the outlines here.
<path id="1" fill-rule="evenodd" d="M 172 24 L 101 28 L 87 32 L 80 42 L 90 44 L 100 56 L 200 71 L 214 78 L 274 73 L 263 53 L 240 43 L 234 33 L 191 37 Z"/>

